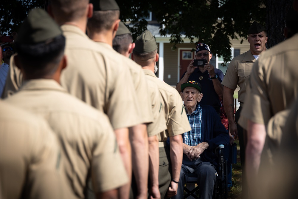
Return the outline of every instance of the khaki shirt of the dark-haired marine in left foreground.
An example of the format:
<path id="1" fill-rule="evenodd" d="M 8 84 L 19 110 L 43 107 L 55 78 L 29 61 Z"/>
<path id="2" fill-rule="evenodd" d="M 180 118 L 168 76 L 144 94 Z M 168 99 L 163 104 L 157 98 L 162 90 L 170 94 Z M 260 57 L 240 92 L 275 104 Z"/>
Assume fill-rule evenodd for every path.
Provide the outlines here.
<path id="1" fill-rule="evenodd" d="M 115 189 L 128 178 L 107 116 L 69 95 L 56 81 L 24 82 L 7 102 L 45 118 L 67 158 L 65 173 L 75 194 L 84 198 L 87 175 L 94 192 Z"/>

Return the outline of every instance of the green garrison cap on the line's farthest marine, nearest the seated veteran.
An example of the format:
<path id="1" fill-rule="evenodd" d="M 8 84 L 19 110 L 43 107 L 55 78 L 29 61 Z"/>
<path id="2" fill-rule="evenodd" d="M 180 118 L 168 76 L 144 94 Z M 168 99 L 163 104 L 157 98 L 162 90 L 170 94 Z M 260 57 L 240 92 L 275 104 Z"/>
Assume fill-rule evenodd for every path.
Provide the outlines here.
<path id="1" fill-rule="evenodd" d="M 145 30 L 140 36 L 136 38 L 136 47 L 133 52 L 137 53 L 151 53 L 157 49 L 155 38 L 149 30 Z"/>

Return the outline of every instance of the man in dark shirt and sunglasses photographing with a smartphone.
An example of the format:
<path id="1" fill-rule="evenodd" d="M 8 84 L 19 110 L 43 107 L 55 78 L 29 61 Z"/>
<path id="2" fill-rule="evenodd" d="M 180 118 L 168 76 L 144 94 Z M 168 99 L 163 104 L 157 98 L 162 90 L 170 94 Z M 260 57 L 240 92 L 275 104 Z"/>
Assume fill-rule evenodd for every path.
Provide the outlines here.
<path id="1" fill-rule="evenodd" d="M 224 87 L 221 84 L 224 74 L 221 70 L 209 64 L 211 58 L 212 54 L 209 46 L 207 44 L 198 44 L 195 50 L 195 59 L 206 60 L 206 64 L 194 66 L 194 60 L 192 60 L 176 85 L 176 89 L 181 92 L 181 84 L 190 80 L 197 81 L 204 88 L 202 90 L 204 98 L 200 104 L 212 106 L 219 114 L 221 108 L 219 98 L 223 97 L 224 92 Z"/>

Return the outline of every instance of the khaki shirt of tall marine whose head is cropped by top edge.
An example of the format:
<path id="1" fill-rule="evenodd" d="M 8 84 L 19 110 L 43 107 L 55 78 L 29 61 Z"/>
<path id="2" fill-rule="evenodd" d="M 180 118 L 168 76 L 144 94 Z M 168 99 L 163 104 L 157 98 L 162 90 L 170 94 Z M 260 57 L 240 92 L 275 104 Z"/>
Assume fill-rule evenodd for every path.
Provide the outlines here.
<path id="1" fill-rule="evenodd" d="M 70 94 L 105 112 L 114 129 L 143 123 L 129 69 L 78 27 L 62 25 L 61 29 L 66 37 L 67 56 L 61 85 Z"/>

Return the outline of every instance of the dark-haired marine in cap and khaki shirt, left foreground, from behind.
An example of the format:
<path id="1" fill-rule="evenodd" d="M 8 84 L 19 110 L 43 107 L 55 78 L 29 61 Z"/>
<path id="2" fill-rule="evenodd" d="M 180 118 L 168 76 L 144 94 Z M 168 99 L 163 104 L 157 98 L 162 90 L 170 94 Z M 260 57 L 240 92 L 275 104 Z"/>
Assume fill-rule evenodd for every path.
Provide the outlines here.
<path id="1" fill-rule="evenodd" d="M 15 46 L 15 64 L 24 82 L 6 101 L 49 122 L 63 149 L 64 175 L 77 198 L 85 198 L 88 178 L 92 178 L 97 198 L 117 197 L 117 188 L 128 177 L 108 117 L 59 84 L 67 63 L 60 27 L 44 10 L 32 10 Z"/>

